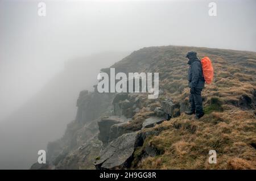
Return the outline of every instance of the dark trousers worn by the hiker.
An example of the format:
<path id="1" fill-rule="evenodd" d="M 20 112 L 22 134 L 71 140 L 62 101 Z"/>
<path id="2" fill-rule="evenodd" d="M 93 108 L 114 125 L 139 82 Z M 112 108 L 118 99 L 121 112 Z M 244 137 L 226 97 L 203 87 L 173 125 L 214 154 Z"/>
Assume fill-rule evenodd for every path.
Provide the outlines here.
<path id="1" fill-rule="evenodd" d="M 190 94 L 189 95 L 189 102 L 191 105 L 190 110 L 191 111 L 196 111 L 197 115 L 200 115 L 203 113 L 203 103 L 202 103 L 202 96 L 201 96 L 201 91 L 203 89 L 195 89 L 195 94 Z"/>

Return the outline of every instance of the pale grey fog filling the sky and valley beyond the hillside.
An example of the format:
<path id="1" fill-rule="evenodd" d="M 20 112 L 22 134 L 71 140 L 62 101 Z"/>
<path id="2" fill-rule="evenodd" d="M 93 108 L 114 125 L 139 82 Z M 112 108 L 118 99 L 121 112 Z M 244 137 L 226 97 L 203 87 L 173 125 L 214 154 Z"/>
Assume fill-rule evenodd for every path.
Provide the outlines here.
<path id="1" fill-rule="evenodd" d="M 256 1 L 0 1 L 0 169 L 28 169 L 75 119 L 79 91 L 133 50 L 256 51 Z"/>

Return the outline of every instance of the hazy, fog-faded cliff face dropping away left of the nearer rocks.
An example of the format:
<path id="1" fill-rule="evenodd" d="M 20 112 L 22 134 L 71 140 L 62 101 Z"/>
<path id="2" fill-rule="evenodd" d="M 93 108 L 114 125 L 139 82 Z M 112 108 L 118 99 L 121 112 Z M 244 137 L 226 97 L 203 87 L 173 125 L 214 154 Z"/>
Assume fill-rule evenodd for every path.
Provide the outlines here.
<path id="1" fill-rule="evenodd" d="M 114 96 L 114 93 L 81 91 L 76 119 L 68 124 L 62 138 L 49 142 L 47 146 L 47 166 L 34 165 L 31 169 L 94 169 L 94 158 L 100 153 L 102 144 L 98 140 L 97 123 L 101 116 L 112 114 Z M 79 149 L 81 145 L 87 146 Z"/>

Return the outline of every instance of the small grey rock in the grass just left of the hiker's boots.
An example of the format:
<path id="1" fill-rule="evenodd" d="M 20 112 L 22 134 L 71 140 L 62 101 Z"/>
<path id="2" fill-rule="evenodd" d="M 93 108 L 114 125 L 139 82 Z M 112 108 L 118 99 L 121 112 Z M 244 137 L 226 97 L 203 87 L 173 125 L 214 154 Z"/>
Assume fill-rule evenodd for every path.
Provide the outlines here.
<path id="1" fill-rule="evenodd" d="M 161 102 L 163 111 L 171 117 L 177 117 L 180 115 L 180 105 L 174 104 L 171 99 L 165 99 Z"/>

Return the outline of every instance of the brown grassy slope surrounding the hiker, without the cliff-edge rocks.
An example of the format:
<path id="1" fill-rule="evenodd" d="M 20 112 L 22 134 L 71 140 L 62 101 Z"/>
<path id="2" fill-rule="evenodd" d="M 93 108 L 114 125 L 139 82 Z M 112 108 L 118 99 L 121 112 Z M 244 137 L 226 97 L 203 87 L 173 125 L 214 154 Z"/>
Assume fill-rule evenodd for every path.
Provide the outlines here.
<path id="1" fill-rule="evenodd" d="M 135 51 L 113 65 L 129 72 L 159 72 L 160 89 L 164 95 L 188 102 L 187 59 L 195 50 L 199 57 L 208 56 L 214 67 L 214 82 L 203 90 L 206 115 L 198 120 L 182 114 L 150 129 L 163 127 L 158 136 L 145 144 L 161 150 L 156 157 L 137 160 L 134 169 L 255 169 L 256 143 L 255 107 L 245 100 L 255 101 L 256 53 L 236 50 L 195 47 L 151 47 Z M 244 98 L 244 99 L 242 99 Z M 144 99 L 145 107 L 134 116 L 134 127 L 151 115 L 151 107 L 159 100 Z M 250 100 L 249 100 L 250 102 Z M 254 102 L 255 105 L 255 102 Z M 142 148 L 135 151 L 139 157 Z M 217 151 L 217 164 L 208 163 L 208 151 Z"/>

